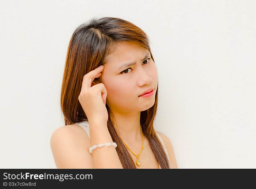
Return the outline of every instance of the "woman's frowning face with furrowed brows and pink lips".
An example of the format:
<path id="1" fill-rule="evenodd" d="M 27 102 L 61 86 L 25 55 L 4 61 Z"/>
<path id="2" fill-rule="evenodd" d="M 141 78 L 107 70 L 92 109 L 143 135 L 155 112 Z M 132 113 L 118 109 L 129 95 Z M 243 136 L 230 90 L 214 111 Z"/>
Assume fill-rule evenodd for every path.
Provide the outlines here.
<path id="1" fill-rule="evenodd" d="M 134 63 L 133 65 L 125 65 Z M 147 49 L 134 42 L 118 42 L 106 57 L 99 77 L 107 89 L 106 104 L 121 113 L 144 111 L 154 105 L 158 85 L 157 67 Z M 154 88 L 153 96 L 139 97 Z"/>

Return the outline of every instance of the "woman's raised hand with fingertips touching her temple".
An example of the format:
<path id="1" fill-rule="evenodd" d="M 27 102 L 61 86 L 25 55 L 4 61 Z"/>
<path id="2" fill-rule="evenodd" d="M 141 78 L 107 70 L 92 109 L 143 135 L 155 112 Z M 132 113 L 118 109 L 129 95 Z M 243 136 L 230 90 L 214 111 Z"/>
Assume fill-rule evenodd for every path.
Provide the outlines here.
<path id="1" fill-rule="evenodd" d="M 93 80 L 101 76 L 104 66 L 99 66 L 83 76 L 83 82 L 78 100 L 86 113 L 88 120 L 108 121 L 106 109 L 107 90 L 103 83 L 93 84 Z"/>

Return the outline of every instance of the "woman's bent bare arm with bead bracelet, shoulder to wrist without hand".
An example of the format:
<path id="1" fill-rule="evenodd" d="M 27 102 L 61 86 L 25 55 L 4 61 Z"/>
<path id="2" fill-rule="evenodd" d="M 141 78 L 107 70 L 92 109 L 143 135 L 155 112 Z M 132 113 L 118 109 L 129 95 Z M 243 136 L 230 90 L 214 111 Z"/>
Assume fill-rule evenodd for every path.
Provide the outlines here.
<path id="1" fill-rule="evenodd" d="M 123 168 L 114 146 L 93 149 L 93 145 L 113 142 L 106 123 L 90 122 L 89 133 L 80 126 L 68 125 L 51 135 L 51 151 L 57 168 Z"/>

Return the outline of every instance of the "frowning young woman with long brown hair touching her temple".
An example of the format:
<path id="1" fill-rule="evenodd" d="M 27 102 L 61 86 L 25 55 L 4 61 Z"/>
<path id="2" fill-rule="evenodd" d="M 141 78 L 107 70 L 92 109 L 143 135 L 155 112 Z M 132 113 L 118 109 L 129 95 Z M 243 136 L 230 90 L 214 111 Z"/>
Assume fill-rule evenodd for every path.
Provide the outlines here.
<path id="1" fill-rule="evenodd" d="M 153 127 L 157 96 L 143 30 L 113 17 L 80 25 L 63 75 L 65 126 L 51 136 L 57 168 L 177 168 L 172 143 Z"/>

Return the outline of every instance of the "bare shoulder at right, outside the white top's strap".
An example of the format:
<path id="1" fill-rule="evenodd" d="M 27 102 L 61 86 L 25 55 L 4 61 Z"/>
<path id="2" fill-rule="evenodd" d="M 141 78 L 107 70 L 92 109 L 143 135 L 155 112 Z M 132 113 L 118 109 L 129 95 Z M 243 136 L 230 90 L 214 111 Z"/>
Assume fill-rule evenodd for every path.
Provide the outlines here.
<path id="1" fill-rule="evenodd" d="M 159 136 L 162 138 L 163 143 L 166 147 L 166 150 L 168 152 L 169 155 L 169 159 L 170 159 L 170 163 L 172 165 L 172 168 L 178 168 L 177 166 L 177 162 L 176 162 L 176 158 L 175 158 L 175 154 L 174 154 L 174 150 L 173 150 L 173 144 L 170 141 L 170 139 L 164 135 L 163 133 L 160 133 L 158 131 L 156 131 L 157 134 L 159 134 Z"/>

